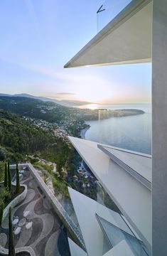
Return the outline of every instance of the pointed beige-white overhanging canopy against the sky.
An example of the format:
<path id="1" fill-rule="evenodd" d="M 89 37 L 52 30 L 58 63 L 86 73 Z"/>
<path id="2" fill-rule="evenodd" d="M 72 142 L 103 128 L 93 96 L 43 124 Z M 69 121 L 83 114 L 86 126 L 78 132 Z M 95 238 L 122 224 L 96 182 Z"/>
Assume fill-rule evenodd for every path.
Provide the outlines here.
<path id="1" fill-rule="evenodd" d="M 133 0 L 66 65 L 151 62 L 152 1 Z"/>

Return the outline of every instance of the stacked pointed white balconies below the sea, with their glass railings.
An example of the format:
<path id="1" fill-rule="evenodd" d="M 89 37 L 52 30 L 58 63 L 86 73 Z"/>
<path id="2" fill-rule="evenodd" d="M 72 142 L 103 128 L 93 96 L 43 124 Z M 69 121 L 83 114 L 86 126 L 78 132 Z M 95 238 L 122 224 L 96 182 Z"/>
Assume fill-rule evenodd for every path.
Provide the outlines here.
<path id="1" fill-rule="evenodd" d="M 97 202 L 69 188 L 87 254 L 119 255 L 125 247 L 127 255 L 151 255 L 151 156 L 70 141 L 99 181 Z M 119 210 L 107 207 L 101 187 Z"/>

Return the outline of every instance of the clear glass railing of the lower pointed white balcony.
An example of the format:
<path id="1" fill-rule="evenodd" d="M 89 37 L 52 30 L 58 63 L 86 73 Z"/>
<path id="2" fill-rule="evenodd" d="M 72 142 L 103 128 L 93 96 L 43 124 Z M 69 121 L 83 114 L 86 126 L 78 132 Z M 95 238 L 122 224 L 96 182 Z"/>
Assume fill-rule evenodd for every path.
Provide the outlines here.
<path id="1" fill-rule="evenodd" d="M 99 182 L 97 182 L 96 218 L 104 233 L 104 238 L 106 239 L 104 241 L 106 241 L 108 245 L 108 250 L 116 246 L 119 250 L 119 243 L 124 242 L 135 256 L 151 255 L 151 252 L 146 248 L 144 242 L 140 240 L 135 230 L 131 227 Z"/>

